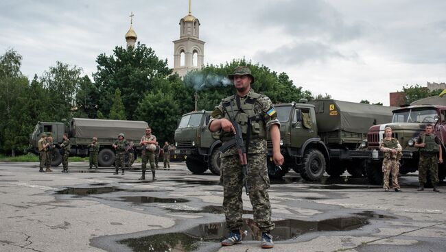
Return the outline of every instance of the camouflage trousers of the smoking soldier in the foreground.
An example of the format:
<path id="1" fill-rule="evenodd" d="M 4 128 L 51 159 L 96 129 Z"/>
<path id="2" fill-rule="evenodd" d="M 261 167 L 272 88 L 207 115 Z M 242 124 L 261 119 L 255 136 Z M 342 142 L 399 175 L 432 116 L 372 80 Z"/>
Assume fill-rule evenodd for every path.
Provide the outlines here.
<path id="1" fill-rule="evenodd" d="M 274 229 L 271 222 L 271 205 L 268 196 L 270 179 L 266 168 L 264 154 L 249 154 L 247 180 L 249 199 L 253 205 L 254 221 L 261 231 Z M 243 225 L 242 188 L 244 176 L 238 155 L 222 157 L 221 176 L 224 198 L 223 210 L 226 216 L 226 228 L 229 230 L 241 229 Z"/>

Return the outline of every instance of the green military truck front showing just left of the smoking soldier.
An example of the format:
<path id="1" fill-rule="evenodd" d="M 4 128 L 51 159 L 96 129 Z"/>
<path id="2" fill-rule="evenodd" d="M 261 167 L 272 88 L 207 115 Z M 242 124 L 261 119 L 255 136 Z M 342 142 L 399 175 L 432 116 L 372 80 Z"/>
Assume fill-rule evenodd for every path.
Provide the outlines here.
<path id="1" fill-rule="evenodd" d="M 201 110 L 183 114 L 175 130 L 175 154 L 186 157 L 186 166 L 194 174 L 208 169 L 220 175 L 220 147 L 222 142 L 213 138 L 207 123 L 211 112 Z"/>

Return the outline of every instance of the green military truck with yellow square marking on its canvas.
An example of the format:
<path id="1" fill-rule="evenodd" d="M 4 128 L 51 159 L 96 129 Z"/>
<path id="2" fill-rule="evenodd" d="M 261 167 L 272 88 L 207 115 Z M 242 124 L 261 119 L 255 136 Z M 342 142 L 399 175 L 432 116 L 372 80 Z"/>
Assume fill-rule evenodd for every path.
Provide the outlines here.
<path id="1" fill-rule="evenodd" d="M 281 153 L 285 157 L 279 176 L 290 169 L 307 181 L 316 181 L 327 172 L 339 176 L 347 171 L 364 175 L 371 151 L 363 150 L 368 128 L 392 118 L 390 107 L 316 99 L 307 103 L 274 105 L 281 122 Z M 272 164 L 272 144 L 268 141 L 268 166 Z M 272 171 L 272 168 L 269 168 Z"/>

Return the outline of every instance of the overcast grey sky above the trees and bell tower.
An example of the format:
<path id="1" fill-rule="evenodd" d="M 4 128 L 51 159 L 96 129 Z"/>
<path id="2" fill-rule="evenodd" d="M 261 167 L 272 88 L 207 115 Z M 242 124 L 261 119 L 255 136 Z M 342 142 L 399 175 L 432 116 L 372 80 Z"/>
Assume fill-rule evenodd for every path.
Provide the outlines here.
<path id="1" fill-rule="evenodd" d="M 188 0 L 0 2 L 0 55 L 32 78 L 61 61 L 96 71 L 133 28 L 173 67 Z M 334 99 L 389 103 L 406 84 L 446 81 L 446 1 L 192 0 L 205 64 L 246 58 Z M 261 91 L 261 90 L 258 90 Z"/>

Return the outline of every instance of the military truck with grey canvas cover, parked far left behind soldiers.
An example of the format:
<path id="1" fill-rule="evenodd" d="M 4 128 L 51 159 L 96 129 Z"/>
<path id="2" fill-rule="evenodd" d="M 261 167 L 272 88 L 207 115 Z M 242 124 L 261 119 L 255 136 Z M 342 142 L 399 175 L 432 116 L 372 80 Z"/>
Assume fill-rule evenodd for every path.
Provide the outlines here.
<path id="1" fill-rule="evenodd" d="M 115 150 L 113 142 L 117 140 L 119 133 L 126 135 L 126 140 L 134 142 L 136 160 L 141 152 L 139 141 L 145 132 L 148 123 L 143 121 L 100 120 L 88 118 L 73 118 L 68 125 L 55 122 L 38 122 L 34 131 L 30 134 L 30 151 L 38 153 L 37 142 L 41 134 L 50 134 L 54 142 L 62 142 L 62 136 L 67 133 L 70 142 L 71 156 L 86 157 L 89 155 L 91 138 L 97 137 L 99 142 L 99 154 L 97 162 L 99 166 L 111 166 L 115 163 Z M 58 166 L 62 162 L 62 155 L 54 151 L 52 166 Z"/>

